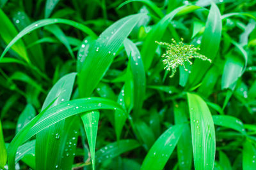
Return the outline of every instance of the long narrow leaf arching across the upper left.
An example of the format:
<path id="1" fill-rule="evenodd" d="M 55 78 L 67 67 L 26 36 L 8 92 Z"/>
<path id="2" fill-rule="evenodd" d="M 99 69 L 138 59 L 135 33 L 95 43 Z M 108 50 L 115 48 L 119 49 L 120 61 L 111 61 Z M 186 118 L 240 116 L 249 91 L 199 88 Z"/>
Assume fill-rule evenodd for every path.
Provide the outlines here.
<path id="1" fill-rule="evenodd" d="M 32 24 L 28 25 L 28 27 L 24 28 L 22 31 L 19 32 L 19 34 L 17 34 L 17 36 L 15 36 L 15 38 L 12 39 L 12 41 L 10 41 L 10 43 L 6 46 L 3 53 L 1 54 L 0 60 L 8 52 L 8 50 L 11 48 L 11 46 L 13 46 L 20 38 L 22 38 L 26 34 L 29 34 L 29 32 L 31 32 L 31 31 L 39 29 L 40 27 L 44 27 L 44 26 L 52 25 L 52 24 L 67 24 L 67 25 L 70 25 L 77 29 L 80 29 L 84 33 L 86 33 L 94 38 L 97 37 L 97 35 L 91 29 L 84 26 L 83 24 L 79 24 L 78 22 L 75 22 L 72 20 L 66 20 L 66 19 L 61 19 L 61 18 L 49 18 L 49 19 L 38 20 L 38 21 L 33 22 Z"/>

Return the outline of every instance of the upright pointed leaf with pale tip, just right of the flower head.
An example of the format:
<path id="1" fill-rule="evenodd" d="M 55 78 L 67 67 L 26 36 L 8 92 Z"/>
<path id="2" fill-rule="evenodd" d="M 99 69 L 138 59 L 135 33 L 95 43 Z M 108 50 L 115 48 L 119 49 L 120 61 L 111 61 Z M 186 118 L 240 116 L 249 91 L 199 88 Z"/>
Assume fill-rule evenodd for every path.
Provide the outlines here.
<path id="1" fill-rule="evenodd" d="M 221 29 L 222 24 L 220 10 L 216 4 L 212 3 L 200 46 L 200 53 L 205 55 L 208 59 L 213 60 L 220 48 Z M 189 85 L 191 87 L 200 82 L 210 65 L 211 64 L 209 62 L 199 59 L 195 60 L 189 76 Z"/>

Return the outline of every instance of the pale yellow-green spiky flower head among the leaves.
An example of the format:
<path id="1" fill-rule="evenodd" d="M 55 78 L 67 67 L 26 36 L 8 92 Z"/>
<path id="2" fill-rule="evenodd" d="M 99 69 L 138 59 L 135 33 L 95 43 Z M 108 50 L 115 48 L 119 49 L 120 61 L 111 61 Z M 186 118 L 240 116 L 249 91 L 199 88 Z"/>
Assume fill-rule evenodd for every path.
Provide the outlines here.
<path id="1" fill-rule="evenodd" d="M 168 71 L 172 69 L 170 78 L 174 76 L 177 71 L 177 67 L 179 66 L 183 66 L 185 71 L 188 71 L 184 65 L 184 62 L 189 62 L 189 64 L 192 65 L 192 62 L 189 59 L 198 58 L 211 62 L 211 59 L 208 59 L 204 55 L 197 52 L 200 50 L 200 48 L 196 48 L 194 45 L 185 45 L 183 43 L 183 38 L 180 40 L 181 41 L 177 43 L 174 39 L 172 39 L 172 44 L 156 41 L 157 44 L 166 48 L 166 52 L 162 55 L 162 57 L 164 57 L 164 69 L 167 69 Z"/>

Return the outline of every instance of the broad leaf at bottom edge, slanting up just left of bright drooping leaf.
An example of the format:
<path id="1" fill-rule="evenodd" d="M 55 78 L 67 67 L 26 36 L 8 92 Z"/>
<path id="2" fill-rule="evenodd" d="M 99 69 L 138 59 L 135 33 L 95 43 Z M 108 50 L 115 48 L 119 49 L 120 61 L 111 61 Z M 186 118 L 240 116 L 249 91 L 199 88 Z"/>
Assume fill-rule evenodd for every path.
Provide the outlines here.
<path id="1" fill-rule="evenodd" d="M 150 148 L 143 160 L 141 170 L 163 169 L 177 145 L 183 129 L 184 125 L 174 125 L 167 129 Z"/>

